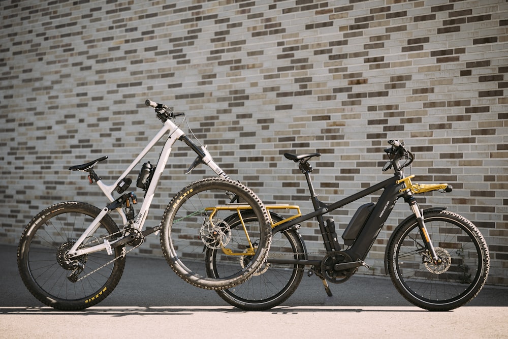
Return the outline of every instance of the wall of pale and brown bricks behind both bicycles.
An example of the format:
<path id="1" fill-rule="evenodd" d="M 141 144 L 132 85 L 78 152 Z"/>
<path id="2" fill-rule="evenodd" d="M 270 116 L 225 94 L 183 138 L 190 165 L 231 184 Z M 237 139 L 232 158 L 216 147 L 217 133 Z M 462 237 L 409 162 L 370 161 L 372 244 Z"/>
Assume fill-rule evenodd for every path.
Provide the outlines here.
<path id="1" fill-rule="evenodd" d="M 16 243 L 51 203 L 105 205 L 66 169 L 108 155 L 98 173 L 120 175 L 160 126 L 150 98 L 186 112 L 232 177 L 303 212 L 306 183 L 284 152 L 323 153 L 313 179 L 335 201 L 386 178 L 386 140 L 404 140 L 418 182 L 454 186 L 422 205 L 478 225 L 489 283 L 508 284 L 505 1 L 9 0 L 0 13 L 0 243 Z M 212 175 L 183 175 L 194 156 L 174 151 L 149 224 L 186 183 Z M 341 229 L 360 203 L 333 213 Z M 390 230 L 408 212 L 396 206 L 372 270 L 360 272 L 384 273 Z M 314 252 L 311 225 L 302 232 Z M 161 255 L 156 237 L 146 242 L 141 254 Z"/>

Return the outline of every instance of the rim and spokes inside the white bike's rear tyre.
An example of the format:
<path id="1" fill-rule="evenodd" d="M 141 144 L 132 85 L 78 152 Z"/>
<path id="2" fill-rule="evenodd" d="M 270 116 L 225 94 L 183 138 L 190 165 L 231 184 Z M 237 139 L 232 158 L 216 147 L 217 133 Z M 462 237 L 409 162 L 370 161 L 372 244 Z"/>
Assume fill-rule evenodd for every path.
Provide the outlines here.
<path id="1" fill-rule="evenodd" d="M 66 261 L 63 257 L 63 252 L 67 252 L 66 249 L 72 246 L 93 219 L 92 214 L 65 209 L 41 221 L 26 240 L 21 253 L 21 260 L 27 268 L 25 280 L 38 293 L 62 303 L 92 302 L 106 294 L 106 286 L 111 282 L 114 271 L 113 265 L 117 262 L 102 266 L 111 261 L 112 256 L 100 251 L 72 261 Z M 109 232 L 101 224 L 95 234 L 106 238 Z M 85 239 L 84 244 L 87 242 L 90 244 L 94 239 Z M 73 271 L 76 274 L 73 275 Z"/>

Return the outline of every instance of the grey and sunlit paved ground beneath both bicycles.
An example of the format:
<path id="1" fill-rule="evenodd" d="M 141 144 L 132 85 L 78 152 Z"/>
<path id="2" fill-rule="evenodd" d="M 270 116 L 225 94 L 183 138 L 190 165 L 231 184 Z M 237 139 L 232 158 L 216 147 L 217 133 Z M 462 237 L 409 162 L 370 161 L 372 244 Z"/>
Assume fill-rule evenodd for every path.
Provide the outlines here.
<path id="1" fill-rule="evenodd" d="M 188 285 L 161 258 L 131 256 L 116 289 L 97 306 L 62 312 L 41 304 L 24 287 L 16 247 L 0 245 L 0 337 L 506 338 L 508 288 L 486 286 L 450 312 L 412 306 L 389 278 L 357 274 L 330 284 L 304 276 L 294 295 L 263 312 L 235 309 L 215 292 Z M 363 269 L 363 268 L 362 268 Z"/>

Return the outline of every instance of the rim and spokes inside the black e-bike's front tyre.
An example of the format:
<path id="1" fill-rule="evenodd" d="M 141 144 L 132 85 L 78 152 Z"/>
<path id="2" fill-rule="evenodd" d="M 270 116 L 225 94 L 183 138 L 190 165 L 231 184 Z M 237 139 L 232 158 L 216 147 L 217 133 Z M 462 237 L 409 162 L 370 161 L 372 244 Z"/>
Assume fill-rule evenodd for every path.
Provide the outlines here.
<path id="1" fill-rule="evenodd" d="M 396 245 L 395 271 L 402 288 L 426 303 L 449 304 L 478 286 L 483 258 L 478 241 L 460 223 L 447 218 L 425 220 L 438 256 L 445 262 L 430 263 L 418 225 L 411 225 Z"/>

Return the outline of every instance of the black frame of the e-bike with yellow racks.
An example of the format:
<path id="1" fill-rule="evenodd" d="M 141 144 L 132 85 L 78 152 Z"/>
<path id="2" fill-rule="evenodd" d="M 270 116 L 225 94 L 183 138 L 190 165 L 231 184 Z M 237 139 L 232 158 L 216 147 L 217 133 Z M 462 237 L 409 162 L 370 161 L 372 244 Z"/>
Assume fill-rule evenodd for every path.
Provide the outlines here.
<path id="1" fill-rule="evenodd" d="M 395 175 L 393 177 L 386 179 L 382 182 L 379 182 L 374 186 L 371 186 L 367 189 L 364 189 L 358 193 L 355 193 L 347 198 L 341 199 L 332 204 L 326 204 L 317 199 L 317 195 L 315 194 L 314 189 L 312 187 L 312 183 L 310 181 L 309 173 L 305 173 L 305 176 L 307 177 L 307 182 L 309 184 L 309 189 L 311 191 L 311 199 L 314 205 L 314 211 L 302 215 L 301 217 L 298 217 L 296 219 L 290 220 L 286 223 L 280 224 L 276 226 L 272 230 L 272 232 L 273 233 L 283 232 L 284 230 L 287 230 L 292 226 L 295 226 L 297 224 L 300 224 L 304 221 L 316 217 L 317 220 L 319 221 L 319 226 L 321 229 L 321 233 L 323 235 L 325 248 L 327 252 L 330 252 L 332 249 L 330 247 L 329 242 L 327 241 L 328 232 L 326 230 L 326 225 L 323 221 L 323 215 L 383 189 L 384 190 L 383 193 L 381 194 L 379 200 L 375 204 L 374 209 L 370 213 L 370 216 L 367 219 L 365 226 L 358 234 L 354 244 L 351 246 L 351 248 L 344 251 L 352 258 L 353 261 L 365 259 L 377 235 L 385 225 L 385 222 L 387 221 L 388 216 L 390 215 L 390 212 L 392 211 L 395 205 L 395 202 L 397 201 L 397 199 L 403 196 L 403 193 L 399 192 L 402 183 L 401 182 L 397 183 L 397 180 L 402 179 L 402 172 L 397 171 L 395 172 Z M 321 260 L 270 258 L 268 259 L 268 263 L 316 265 L 320 264 Z"/>

